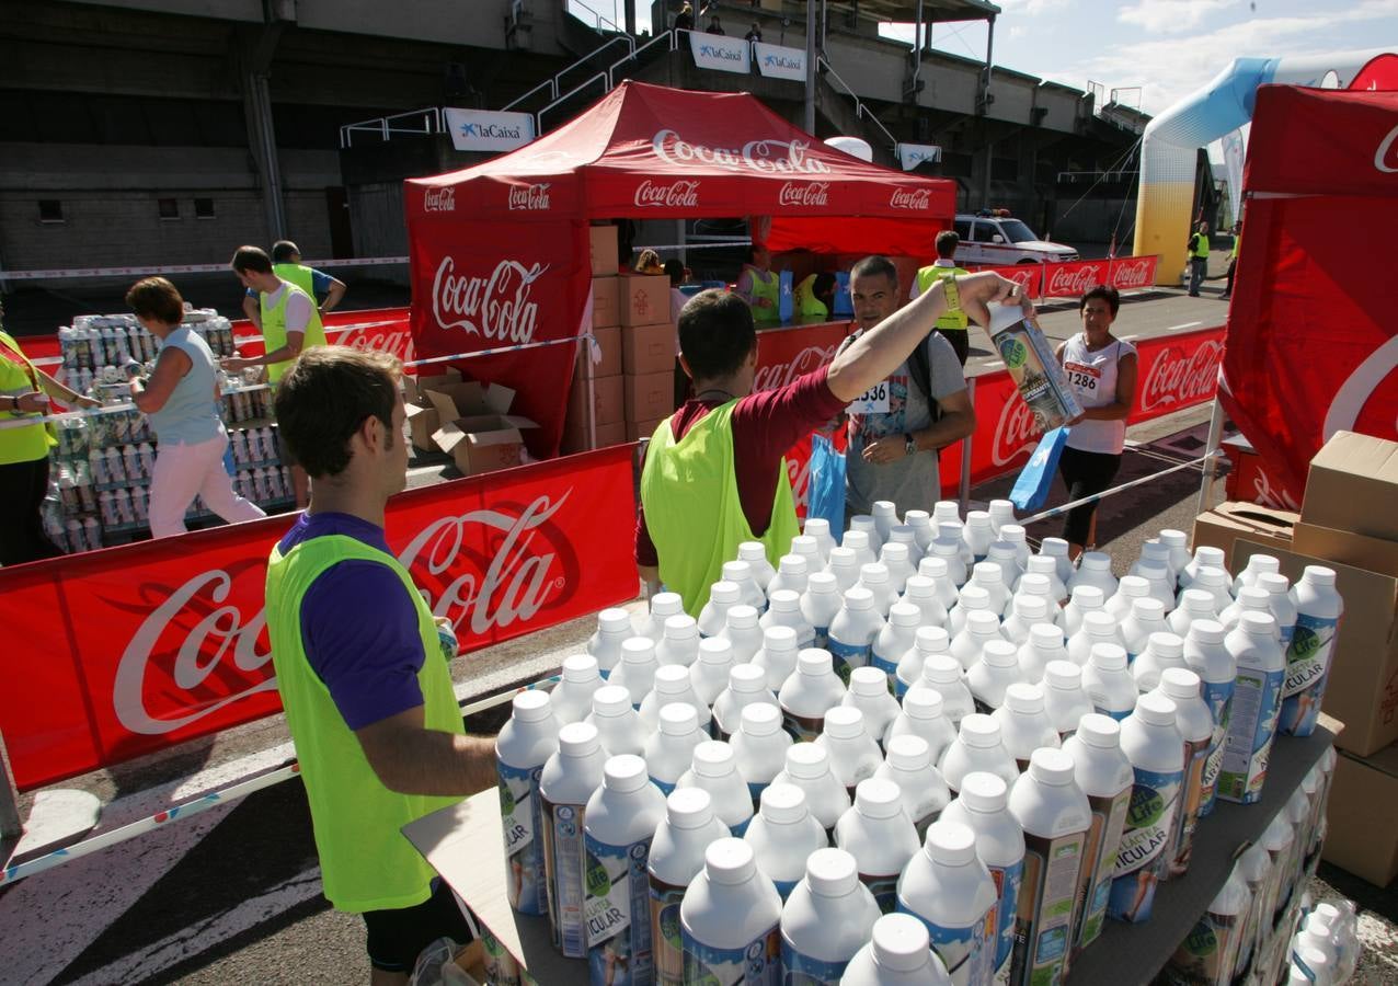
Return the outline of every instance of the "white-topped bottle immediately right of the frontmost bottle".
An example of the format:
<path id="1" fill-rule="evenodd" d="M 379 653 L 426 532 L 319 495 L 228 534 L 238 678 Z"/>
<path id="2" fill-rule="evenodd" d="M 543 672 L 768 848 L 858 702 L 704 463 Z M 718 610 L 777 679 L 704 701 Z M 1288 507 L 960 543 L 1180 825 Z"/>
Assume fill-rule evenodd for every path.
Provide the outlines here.
<path id="1" fill-rule="evenodd" d="M 932 951 L 956 986 L 991 982 L 995 905 L 995 883 L 976 855 L 976 834 L 941 818 L 898 883 L 898 909 L 927 926 Z"/>

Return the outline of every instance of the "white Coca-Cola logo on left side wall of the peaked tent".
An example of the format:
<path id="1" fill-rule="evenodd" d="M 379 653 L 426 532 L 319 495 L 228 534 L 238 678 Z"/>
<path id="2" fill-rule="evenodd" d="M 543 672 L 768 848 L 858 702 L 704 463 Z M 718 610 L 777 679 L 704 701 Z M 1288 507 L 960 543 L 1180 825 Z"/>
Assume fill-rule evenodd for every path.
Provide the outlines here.
<path id="1" fill-rule="evenodd" d="M 519 344 L 534 341 L 538 302 L 530 301 L 530 292 L 548 264 L 500 260 L 488 277 L 456 276 L 454 270 L 456 262 L 442 257 L 432 278 L 432 317 L 442 329 Z"/>

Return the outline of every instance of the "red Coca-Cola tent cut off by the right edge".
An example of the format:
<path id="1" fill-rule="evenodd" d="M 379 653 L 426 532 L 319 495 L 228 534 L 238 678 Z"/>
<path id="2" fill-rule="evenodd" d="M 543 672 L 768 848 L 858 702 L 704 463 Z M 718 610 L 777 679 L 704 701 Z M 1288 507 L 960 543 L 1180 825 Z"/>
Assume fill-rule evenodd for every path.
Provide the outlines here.
<path id="1" fill-rule="evenodd" d="M 1257 92 L 1225 408 L 1300 502 L 1332 434 L 1398 439 L 1398 92 Z"/>

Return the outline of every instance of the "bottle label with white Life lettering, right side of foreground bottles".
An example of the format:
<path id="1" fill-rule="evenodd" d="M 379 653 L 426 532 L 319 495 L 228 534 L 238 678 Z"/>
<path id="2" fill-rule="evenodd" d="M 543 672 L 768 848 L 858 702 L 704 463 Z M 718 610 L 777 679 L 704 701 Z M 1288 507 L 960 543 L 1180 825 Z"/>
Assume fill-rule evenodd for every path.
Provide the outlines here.
<path id="1" fill-rule="evenodd" d="M 1107 916 L 1142 922 L 1151 917 L 1155 885 L 1165 876 L 1166 849 L 1174 838 L 1174 815 L 1180 801 L 1184 769 L 1158 772 L 1137 768 L 1131 786 L 1131 807 L 1121 832 L 1121 848 L 1113 870 Z"/>

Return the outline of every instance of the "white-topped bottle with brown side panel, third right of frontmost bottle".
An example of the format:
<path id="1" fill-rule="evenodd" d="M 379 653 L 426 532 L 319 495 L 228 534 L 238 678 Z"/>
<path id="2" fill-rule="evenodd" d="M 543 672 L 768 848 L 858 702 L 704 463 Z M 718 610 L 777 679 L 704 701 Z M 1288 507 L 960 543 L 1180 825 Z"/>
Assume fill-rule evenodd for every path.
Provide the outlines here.
<path id="1" fill-rule="evenodd" d="M 1068 971 L 1078 883 L 1092 834 L 1092 808 L 1074 778 L 1072 757 L 1036 750 L 1029 772 L 1009 793 L 1025 829 L 1011 982 L 1061 982 Z"/>

